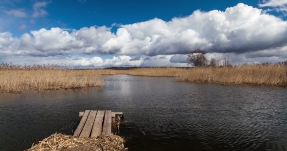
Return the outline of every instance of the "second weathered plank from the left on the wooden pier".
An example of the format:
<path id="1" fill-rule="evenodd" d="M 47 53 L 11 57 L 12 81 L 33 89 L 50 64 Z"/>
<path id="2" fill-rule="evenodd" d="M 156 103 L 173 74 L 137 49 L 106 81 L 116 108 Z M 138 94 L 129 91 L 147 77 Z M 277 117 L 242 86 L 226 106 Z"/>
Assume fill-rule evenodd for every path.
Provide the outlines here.
<path id="1" fill-rule="evenodd" d="M 85 123 L 85 126 L 84 126 L 79 137 L 89 137 L 90 136 L 90 132 L 91 132 L 91 129 L 93 127 L 96 115 L 97 115 L 97 111 L 90 111 L 89 117 L 88 117 L 88 119 Z"/>

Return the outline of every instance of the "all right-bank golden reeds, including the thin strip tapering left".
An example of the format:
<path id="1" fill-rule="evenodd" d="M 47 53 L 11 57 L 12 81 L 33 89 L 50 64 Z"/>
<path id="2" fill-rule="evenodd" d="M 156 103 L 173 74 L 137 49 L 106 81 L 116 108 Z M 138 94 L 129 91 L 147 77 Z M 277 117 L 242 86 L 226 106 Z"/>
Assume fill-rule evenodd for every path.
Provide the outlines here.
<path id="1" fill-rule="evenodd" d="M 282 64 L 233 67 L 151 67 L 109 71 L 114 74 L 176 77 L 179 82 L 287 86 L 287 66 Z"/>

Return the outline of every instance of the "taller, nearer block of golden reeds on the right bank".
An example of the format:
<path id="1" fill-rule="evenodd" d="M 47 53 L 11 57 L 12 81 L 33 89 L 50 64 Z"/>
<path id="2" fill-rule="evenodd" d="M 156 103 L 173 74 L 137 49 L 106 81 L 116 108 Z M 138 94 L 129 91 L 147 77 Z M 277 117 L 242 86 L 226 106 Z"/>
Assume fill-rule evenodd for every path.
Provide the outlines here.
<path id="1" fill-rule="evenodd" d="M 287 66 L 285 65 L 196 67 L 179 72 L 177 76 L 179 82 L 287 86 Z"/>

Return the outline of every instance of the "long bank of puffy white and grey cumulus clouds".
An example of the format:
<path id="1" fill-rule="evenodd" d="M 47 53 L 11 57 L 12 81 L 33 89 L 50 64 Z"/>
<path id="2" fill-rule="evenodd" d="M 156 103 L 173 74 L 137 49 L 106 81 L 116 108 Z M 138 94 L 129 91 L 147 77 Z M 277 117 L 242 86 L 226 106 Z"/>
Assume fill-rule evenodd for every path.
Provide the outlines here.
<path id="1" fill-rule="evenodd" d="M 37 2 L 34 8 L 40 10 L 46 5 L 47 2 Z M 6 32 L 0 38 L 2 56 L 132 55 L 136 57 L 127 61 L 182 66 L 186 63 L 184 56 L 197 48 L 210 54 L 231 53 L 238 56 L 236 61 L 249 62 L 252 57 L 280 59 L 287 52 L 287 21 L 239 3 L 225 11 L 197 10 L 170 21 L 154 18 L 120 25 L 116 33 L 111 32 L 111 27 L 91 26 L 79 30 L 40 29 L 20 38 Z M 146 57 L 141 59 L 141 55 Z"/>

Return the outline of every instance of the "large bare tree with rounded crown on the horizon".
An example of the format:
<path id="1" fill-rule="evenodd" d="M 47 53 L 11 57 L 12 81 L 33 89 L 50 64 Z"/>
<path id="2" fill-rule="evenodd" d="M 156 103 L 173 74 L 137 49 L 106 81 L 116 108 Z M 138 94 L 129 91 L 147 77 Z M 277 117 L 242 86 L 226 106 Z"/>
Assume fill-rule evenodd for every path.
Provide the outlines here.
<path id="1" fill-rule="evenodd" d="M 197 48 L 187 55 L 186 61 L 189 64 L 194 64 L 195 67 L 204 67 L 207 65 L 206 51 Z"/>

